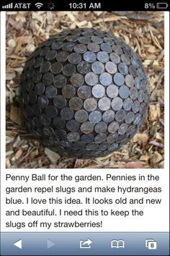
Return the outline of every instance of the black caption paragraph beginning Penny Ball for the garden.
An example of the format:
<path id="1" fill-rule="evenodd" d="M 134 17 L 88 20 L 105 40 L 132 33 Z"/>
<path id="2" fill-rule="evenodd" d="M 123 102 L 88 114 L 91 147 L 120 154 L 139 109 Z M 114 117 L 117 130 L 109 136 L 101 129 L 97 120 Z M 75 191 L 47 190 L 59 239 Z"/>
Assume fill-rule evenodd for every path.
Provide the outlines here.
<path id="1" fill-rule="evenodd" d="M 141 220 L 162 203 L 158 175 L 53 173 L 6 174 L 7 231 L 102 230 L 111 221 Z"/>

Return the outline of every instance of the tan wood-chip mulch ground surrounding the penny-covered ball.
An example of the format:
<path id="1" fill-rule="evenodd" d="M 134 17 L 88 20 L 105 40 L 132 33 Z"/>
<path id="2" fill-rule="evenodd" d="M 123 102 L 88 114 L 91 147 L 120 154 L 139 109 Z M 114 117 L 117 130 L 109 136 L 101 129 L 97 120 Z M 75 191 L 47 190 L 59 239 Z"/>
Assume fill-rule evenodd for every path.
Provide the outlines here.
<path id="1" fill-rule="evenodd" d="M 143 61 L 151 85 L 148 116 L 120 150 L 90 160 L 63 158 L 21 126 L 19 76 L 38 44 L 64 29 L 94 27 L 125 40 Z M 163 12 L 7 12 L 6 168 L 164 168 Z"/>

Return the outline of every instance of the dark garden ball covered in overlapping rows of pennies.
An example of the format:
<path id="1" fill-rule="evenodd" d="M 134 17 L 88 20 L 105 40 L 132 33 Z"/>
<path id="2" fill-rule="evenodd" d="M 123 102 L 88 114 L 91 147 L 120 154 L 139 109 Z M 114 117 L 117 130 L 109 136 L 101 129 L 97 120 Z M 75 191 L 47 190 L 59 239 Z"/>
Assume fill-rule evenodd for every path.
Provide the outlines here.
<path id="1" fill-rule="evenodd" d="M 149 85 L 135 51 L 115 35 L 65 30 L 41 43 L 19 85 L 24 123 L 45 147 L 96 158 L 125 145 L 146 116 Z"/>

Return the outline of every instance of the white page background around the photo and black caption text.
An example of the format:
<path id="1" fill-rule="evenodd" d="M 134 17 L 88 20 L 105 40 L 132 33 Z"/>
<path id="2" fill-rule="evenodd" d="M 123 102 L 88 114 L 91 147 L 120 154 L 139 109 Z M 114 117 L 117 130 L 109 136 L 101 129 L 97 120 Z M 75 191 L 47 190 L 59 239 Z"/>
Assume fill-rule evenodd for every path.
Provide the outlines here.
<path id="1" fill-rule="evenodd" d="M 27 175 L 32 173 L 38 173 L 38 174 L 54 174 L 54 175 L 60 175 L 63 173 L 66 173 L 66 175 L 89 175 L 89 174 L 95 174 L 95 175 L 103 175 L 109 173 L 112 175 L 138 175 L 138 174 L 153 174 L 153 175 L 160 175 L 161 182 L 144 182 L 143 184 L 141 182 L 103 182 L 100 183 L 102 186 L 110 186 L 115 187 L 115 185 L 119 184 L 121 187 L 128 187 L 130 185 L 133 185 L 134 187 L 162 187 L 163 192 L 161 193 L 162 203 L 161 207 L 160 205 L 139 205 L 136 207 L 138 210 L 144 211 L 144 216 L 140 217 L 104 217 L 103 223 L 104 226 L 102 229 L 50 229 L 48 231 L 169 231 L 169 12 L 165 13 L 165 168 L 164 169 L 69 169 L 69 170 L 61 170 L 61 169 L 38 169 L 38 170 L 29 170 L 29 169 L 6 169 L 5 168 L 5 12 L 1 12 L 1 231 L 42 231 L 42 229 L 6 229 L 5 223 L 8 221 L 8 218 L 5 216 L 5 211 L 8 207 L 8 205 L 5 204 L 5 175 L 6 173 L 14 174 L 14 175 Z M 12 182 L 13 186 L 17 187 L 17 184 L 19 186 L 22 185 L 22 182 Z M 32 183 L 34 185 L 34 183 Z M 53 183 L 52 183 L 53 184 Z M 84 187 L 89 187 L 92 184 L 92 182 L 84 182 Z M 96 184 L 96 182 L 95 182 Z M 30 184 L 24 184 L 25 186 L 30 187 Z M 42 185 L 42 184 L 40 184 Z M 47 185 L 47 182 L 45 182 L 45 185 Z M 63 186 L 69 186 L 69 182 L 62 182 Z M 71 182 L 71 185 L 73 185 L 73 182 Z M 81 184 L 76 184 L 77 186 L 80 186 Z M 75 185 L 75 186 L 76 186 Z M 99 184 L 97 184 L 99 185 Z M 10 184 L 8 183 L 8 186 Z M 38 185 L 37 185 L 38 186 Z M 50 182 L 48 182 L 48 186 L 50 186 Z M 56 184 L 58 186 L 58 184 Z M 115 195 L 115 194 L 114 194 Z M 86 197 L 86 195 L 82 195 L 82 197 Z M 107 197 L 112 197 L 112 195 L 106 195 Z M 116 196 L 116 195 L 115 195 Z M 132 195 L 124 195 L 123 197 L 132 197 Z M 9 196 L 8 196 L 9 197 Z M 24 200 L 25 195 L 19 195 L 17 196 Z M 32 197 L 40 197 L 40 195 L 32 195 Z M 42 197 L 48 197 L 45 195 L 42 195 Z M 58 197 L 60 197 L 58 195 Z M 67 195 L 69 197 L 69 195 Z M 72 197 L 79 197 L 79 195 L 76 195 L 74 193 Z M 94 197 L 97 197 L 95 194 Z M 99 196 L 98 196 L 99 197 Z M 101 197 L 104 197 L 104 195 L 101 195 Z M 143 197 L 143 195 L 139 194 L 138 197 Z M 148 197 L 148 195 L 145 195 L 144 197 Z M 157 196 L 157 194 L 154 196 L 153 193 L 150 195 L 151 198 L 158 197 L 160 198 L 160 195 Z M 108 206 L 105 205 L 102 208 L 104 210 L 109 210 L 109 208 L 113 208 L 114 205 Z M 135 205 L 133 205 L 134 208 Z M 29 206 L 27 206 L 29 209 Z M 50 206 L 45 205 L 44 208 L 49 208 Z M 51 205 L 52 208 L 55 208 L 53 205 Z M 61 208 L 61 205 L 56 206 L 56 208 Z M 65 210 L 67 210 L 66 205 L 62 206 Z M 119 205 L 118 208 L 125 210 L 127 206 Z M 15 206 L 14 208 L 18 209 L 19 206 Z M 40 207 L 37 207 L 40 209 Z M 43 208 L 43 207 L 42 207 Z M 77 206 L 71 206 L 71 210 L 76 209 Z M 90 207 L 88 207 L 90 208 Z M 91 208 L 98 209 L 101 208 L 101 206 L 93 205 Z M 30 206 L 30 210 L 36 210 L 35 205 L 32 207 Z M 130 209 L 129 209 L 130 210 Z M 56 218 L 56 216 L 55 216 Z M 37 217 L 30 217 L 29 221 L 35 220 Z M 41 221 L 47 221 L 50 219 L 50 217 L 40 217 Z M 26 218 L 19 216 L 12 217 L 13 221 L 26 221 Z M 55 221 L 59 221 L 60 219 L 57 218 Z M 62 218 L 62 221 L 100 221 L 101 217 L 94 216 L 93 218 L 89 217 L 65 217 Z M 47 230 L 45 230 L 47 231 Z"/>

